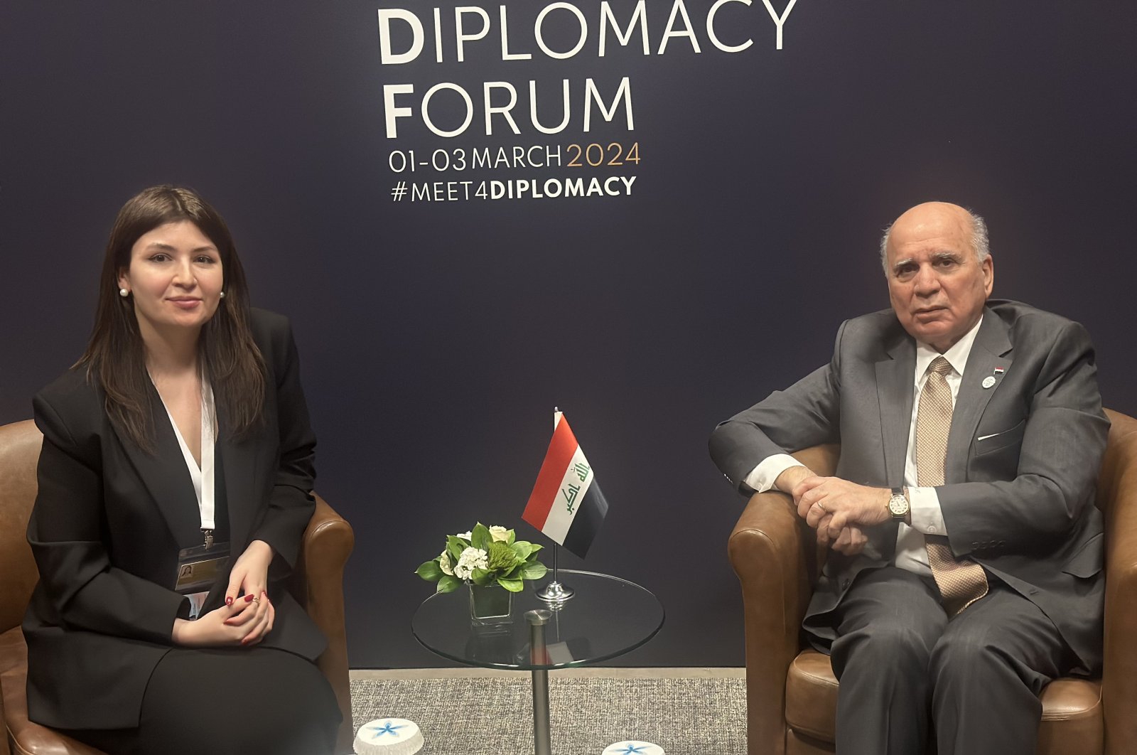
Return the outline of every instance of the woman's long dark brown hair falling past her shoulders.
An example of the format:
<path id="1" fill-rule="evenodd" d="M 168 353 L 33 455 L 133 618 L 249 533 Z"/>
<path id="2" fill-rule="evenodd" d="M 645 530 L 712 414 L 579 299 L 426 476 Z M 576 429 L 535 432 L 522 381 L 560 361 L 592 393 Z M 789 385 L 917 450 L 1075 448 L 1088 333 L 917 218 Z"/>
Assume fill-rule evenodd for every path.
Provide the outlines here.
<path id="1" fill-rule="evenodd" d="M 213 384 L 218 413 L 235 435 L 260 420 L 265 397 L 265 360 L 249 329 L 249 289 L 224 218 L 192 189 L 151 186 L 118 210 L 107 240 L 99 274 L 99 305 L 86 350 L 75 367 L 106 393 L 106 410 L 140 447 L 153 449 L 153 426 L 147 398 L 150 378 L 146 349 L 134 315 L 133 297 L 118 294 L 118 275 L 131 264 L 131 250 L 143 233 L 189 221 L 217 247 L 225 277 L 225 298 L 201 329 L 198 355 Z"/>

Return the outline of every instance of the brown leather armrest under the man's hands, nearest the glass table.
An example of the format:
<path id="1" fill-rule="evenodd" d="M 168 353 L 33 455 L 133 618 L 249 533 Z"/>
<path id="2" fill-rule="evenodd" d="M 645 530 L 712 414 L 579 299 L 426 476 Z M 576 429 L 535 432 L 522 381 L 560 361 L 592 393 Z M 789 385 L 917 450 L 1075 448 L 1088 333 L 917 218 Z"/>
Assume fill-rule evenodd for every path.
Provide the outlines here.
<path id="1" fill-rule="evenodd" d="M 727 544 L 742 588 L 750 753 L 785 752 L 786 674 L 800 649 L 812 591 L 808 545 L 789 496 L 773 491 L 750 498 Z"/>

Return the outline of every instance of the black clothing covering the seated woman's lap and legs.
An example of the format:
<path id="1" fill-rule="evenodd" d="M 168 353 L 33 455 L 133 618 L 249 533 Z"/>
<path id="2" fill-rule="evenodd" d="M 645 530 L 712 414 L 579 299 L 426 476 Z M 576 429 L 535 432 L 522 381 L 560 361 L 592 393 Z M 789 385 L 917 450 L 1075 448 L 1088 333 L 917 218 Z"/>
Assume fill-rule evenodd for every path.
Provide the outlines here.
<path id="1" fill-rule="evenodd" d="M 274 648 L 174 648 L 138 729 L 66 733 L 108 755 L 330 755 L 340 710 L 315 664 Z"/>

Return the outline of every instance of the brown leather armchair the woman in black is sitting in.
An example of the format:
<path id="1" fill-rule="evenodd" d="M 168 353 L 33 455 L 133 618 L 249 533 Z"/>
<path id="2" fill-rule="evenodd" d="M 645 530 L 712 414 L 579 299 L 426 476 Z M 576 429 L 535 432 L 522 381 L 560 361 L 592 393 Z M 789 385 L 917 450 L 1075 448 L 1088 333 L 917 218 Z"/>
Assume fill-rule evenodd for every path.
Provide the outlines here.
<path id="1" fill-rule="evenodd" d="M 39 580 L 25 532 L 35 501 L 42 440 L 31 420 L 0 426 L 0 717 L 7 729 L 0 737 L 0 755 L 9 755 L 9 746 L 14 755 L 102 755 L 27 720 L 27 647 L 19 624 Z M 316 496 L 290 589 L 329 640 L 316 663 L 343 713 L 338 753 L 350 753 L 354 740 L 343 625 L 343 565 L 354 545 L 351 525 Z"/>

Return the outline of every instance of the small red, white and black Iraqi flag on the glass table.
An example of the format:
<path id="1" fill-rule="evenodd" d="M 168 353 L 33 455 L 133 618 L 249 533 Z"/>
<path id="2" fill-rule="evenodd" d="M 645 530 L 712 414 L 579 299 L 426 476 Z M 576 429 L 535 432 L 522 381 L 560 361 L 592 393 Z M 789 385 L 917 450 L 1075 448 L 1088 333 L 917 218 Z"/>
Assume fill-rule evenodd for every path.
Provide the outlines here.
<path id="1" fill-rule="evenodd" d="M 554 417 L 553 440 L 521 518 L 583 558 L 608 513 L 608 501 L 568 421 L 561 412 Z"/>

